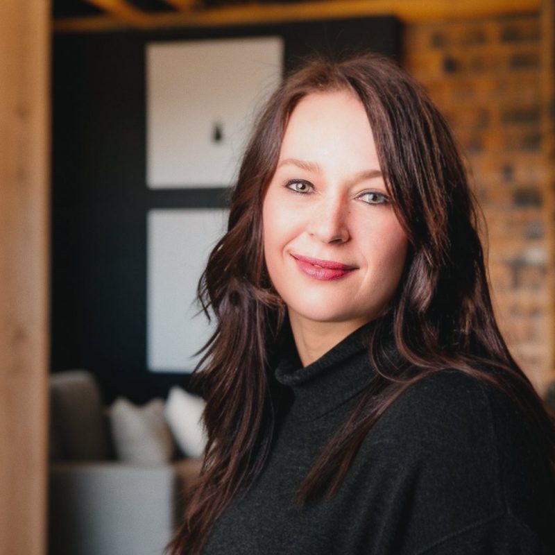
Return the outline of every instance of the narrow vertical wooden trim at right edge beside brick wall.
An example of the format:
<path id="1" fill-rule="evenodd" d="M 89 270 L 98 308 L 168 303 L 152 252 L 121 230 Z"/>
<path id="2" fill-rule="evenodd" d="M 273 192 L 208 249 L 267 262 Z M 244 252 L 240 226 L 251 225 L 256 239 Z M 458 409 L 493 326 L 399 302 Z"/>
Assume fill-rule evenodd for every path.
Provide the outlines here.
<path id="1" fill-rule="evenodd" d="M 555 380 L 555 0 L 543 0 L 541 10 L 542 35 L 542 155 L 543 155 L 543 207 L 545 223 L 545 244 L 547 250 L 547 289 L 549 291 L 549 370 L 547 387 Z"/>

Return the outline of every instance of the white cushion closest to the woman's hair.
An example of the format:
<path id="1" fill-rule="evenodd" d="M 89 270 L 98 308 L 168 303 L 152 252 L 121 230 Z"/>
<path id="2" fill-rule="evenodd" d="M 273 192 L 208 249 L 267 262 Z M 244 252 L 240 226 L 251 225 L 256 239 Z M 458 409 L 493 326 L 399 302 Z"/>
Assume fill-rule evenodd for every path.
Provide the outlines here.
<path id="1" fill-rule="evenodd" d="M 206 438 L 200 419 L 204 400 L 187 393 L 180 387 L 172 387 L 164 412 L 176 443 L 185 456 L 201 456 Z"/>

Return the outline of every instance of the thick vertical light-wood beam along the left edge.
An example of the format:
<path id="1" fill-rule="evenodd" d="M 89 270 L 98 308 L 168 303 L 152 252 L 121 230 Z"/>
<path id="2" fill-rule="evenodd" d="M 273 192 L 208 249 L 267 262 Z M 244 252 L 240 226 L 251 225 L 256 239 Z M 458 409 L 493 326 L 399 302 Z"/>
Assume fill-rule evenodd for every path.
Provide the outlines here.
<path id="1" fill-rule="evenodd" d="M 0 2 L 0 553 L 46 549 L 50 5 Z"/>

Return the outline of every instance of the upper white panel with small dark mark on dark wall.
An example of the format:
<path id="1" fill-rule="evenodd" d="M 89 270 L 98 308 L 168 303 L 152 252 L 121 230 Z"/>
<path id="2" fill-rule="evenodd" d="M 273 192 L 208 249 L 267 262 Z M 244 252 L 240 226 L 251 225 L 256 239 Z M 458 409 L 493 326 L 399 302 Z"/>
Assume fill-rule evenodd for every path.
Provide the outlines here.
<path id="1" fill-rule="evenodd" d="M 227 187 L 258 109 L 280 82 L 283 40 L 146 45 L 146 183 Z"/>

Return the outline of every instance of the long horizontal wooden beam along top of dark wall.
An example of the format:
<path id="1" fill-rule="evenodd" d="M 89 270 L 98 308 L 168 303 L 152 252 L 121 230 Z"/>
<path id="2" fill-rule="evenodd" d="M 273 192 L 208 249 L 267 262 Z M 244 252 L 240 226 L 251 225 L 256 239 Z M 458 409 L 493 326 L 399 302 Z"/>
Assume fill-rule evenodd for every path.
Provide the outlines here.
<path id="1" fill-rule="evenodd" d="M 108 3 L 115 0 L 89 1 Z M 404 22 L 432 22 L 538 12 L 540 4 L 541 0 L 318 0 L 291 4 L 249 3 L 208 10 L 192 10 L 187 13 L 145 14 L 148 21 L 144 26 L 152 29 L 179 26 L 227 26 L 373 15 L 395 15 Z M 117 15 L 114 11 L 111 13 Z M 113 17 L 58 18 L 53 28 L 58 33 L 99 31 L 103 26 L 112 29 L 114 24 Z M 125 26 L 123 20 L 120 25 Z"/>

